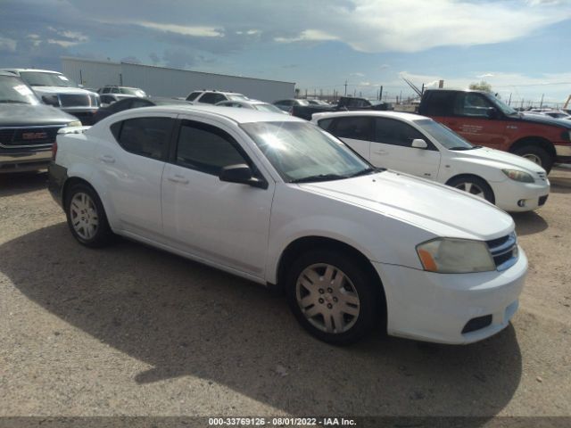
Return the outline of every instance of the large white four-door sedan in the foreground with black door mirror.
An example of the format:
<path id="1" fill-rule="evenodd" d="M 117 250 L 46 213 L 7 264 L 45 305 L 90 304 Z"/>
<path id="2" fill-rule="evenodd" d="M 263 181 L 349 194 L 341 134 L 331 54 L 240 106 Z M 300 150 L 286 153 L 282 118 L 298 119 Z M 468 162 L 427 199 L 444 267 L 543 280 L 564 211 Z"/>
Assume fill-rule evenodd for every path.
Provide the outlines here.
<path id="1" fill-rule="evenodd" d="M 509 324 L 524 285 L 527 259 L 505 212 L 373 168 L 280 113 L 122 111 L 58 136 L 49 175 L 79 243 L 124 235 L 277 284 L 327 342 L 379 323 L 402 337 L 476 342 Z"/>

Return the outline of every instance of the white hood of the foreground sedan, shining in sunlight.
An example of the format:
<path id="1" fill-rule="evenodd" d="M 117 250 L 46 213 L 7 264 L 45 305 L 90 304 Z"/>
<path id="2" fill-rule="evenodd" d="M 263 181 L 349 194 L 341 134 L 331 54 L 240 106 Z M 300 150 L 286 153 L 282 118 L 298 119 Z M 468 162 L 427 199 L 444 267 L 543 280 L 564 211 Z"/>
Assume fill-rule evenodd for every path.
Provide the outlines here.
<path id="1" fill-rule="evenodd" d="M 396 171 L 300 187 L 399 218 L 436 236 L 488 241 L 508 235 L 514 229 L 513 219 L 489 202 Z"/>

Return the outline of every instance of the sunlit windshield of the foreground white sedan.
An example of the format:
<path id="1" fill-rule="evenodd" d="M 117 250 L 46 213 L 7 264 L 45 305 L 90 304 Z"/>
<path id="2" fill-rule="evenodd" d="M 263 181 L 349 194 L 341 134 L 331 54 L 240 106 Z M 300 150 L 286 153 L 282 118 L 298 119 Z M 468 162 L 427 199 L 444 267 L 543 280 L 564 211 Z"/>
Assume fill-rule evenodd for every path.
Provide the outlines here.
<path id="1" fill-rule="evenodd" d="M 241 127 L 288 183 L 338 180 L 377 170 L 310 123 L 253 122 Z"/>

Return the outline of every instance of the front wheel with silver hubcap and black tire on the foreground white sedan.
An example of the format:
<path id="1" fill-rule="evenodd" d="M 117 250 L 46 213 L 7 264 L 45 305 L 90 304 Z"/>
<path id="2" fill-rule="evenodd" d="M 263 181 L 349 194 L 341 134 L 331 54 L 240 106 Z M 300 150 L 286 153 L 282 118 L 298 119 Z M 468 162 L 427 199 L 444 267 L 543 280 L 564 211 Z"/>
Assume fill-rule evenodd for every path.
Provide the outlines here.
<path id="1" fill-rule="evenodd" d="M 324 342 L 358 341 L 375 325 L 377 282 L 358 260 L 335 251 L 308 251 L 289 269 L 286 292 L 302 326 Z"/>

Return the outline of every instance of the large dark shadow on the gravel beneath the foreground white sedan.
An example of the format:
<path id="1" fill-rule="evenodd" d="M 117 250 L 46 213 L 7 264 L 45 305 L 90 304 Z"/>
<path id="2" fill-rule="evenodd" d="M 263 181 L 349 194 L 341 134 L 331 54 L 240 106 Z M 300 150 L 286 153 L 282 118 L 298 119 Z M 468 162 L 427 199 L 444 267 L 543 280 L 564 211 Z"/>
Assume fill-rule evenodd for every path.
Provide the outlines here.
<path id="1" fill-rule="evenodd" d="M 522 374 L 511 325 L 468 346 L 374 335 L 337 348 L 302 331 L 277 293 L 137 243 L 88 250 L 64 223 L 1 245 L 0 270 L 44 309 L 153 366 L 134 388 L 192 375 L 298 416 L 491 417 Z"/>

